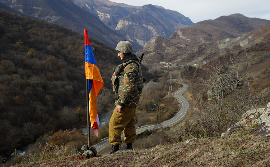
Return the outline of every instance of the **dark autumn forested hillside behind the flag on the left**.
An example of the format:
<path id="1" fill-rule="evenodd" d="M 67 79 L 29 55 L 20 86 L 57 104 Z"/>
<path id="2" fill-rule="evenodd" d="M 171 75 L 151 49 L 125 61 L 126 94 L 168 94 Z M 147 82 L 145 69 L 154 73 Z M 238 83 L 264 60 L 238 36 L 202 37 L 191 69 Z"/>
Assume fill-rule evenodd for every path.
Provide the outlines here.
<path id="1" fill-rule="evenodd" d="M 120 59 L 113 48 L 90 42 L 106 92 Z M 46 131 L 72 128 L 81 110 L 86 114 L 82 34 L 1 10 L 0 51 L 0 155 Z M 110 96 L 100 96 L 100 111 L 111 107 Z"/>

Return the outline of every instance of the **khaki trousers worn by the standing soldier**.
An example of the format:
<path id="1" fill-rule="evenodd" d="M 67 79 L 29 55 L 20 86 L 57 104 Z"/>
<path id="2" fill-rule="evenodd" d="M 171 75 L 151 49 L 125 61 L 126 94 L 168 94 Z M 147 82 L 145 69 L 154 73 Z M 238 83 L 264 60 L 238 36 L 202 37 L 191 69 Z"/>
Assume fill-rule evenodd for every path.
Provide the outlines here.
<path id="1" fill-rule="evenodd" d="M 114 108 L 113 115 L 109 122 L 109 141 L 113 145 L 121 145 L 121 134 L 124 134 L 125 143 L 133 143 L 136 136 L 135 116 L 136 107 L 123 106 L 123 112 L 117 112 Z"/>

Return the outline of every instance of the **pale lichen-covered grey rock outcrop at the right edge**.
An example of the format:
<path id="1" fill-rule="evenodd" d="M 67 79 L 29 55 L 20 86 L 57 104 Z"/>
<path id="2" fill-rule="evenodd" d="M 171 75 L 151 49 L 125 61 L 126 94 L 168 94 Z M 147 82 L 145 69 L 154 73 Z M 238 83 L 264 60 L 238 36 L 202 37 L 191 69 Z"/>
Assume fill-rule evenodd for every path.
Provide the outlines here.
<path id="1" fill-rule="evenodd" d="M 234 124 L 226 132 L 222 133 L 221 137 L 230 135 L 237 129 L 244 129 L 241 124 L 258 124 L 255 129 L 255 134 L 270 137 L 270 102 L 267 104 L 267 108 L 257 108 L 244 113 L 240 122 Z"/>

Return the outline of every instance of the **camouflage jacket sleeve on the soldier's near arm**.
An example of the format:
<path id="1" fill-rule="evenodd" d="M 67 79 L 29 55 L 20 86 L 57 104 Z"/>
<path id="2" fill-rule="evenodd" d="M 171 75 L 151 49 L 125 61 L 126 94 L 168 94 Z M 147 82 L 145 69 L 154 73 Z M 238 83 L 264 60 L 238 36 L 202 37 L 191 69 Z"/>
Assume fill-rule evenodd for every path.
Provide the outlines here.
<path id="1" fill-rule="evenodd" d="M 136 99 L 137 91 L 134 91 L 135 78 L 138 73 L 138 65 L 136 63 L 128 64 L 123 72 L 123 78 L 120 79 L 122 83 L 119 85 L 119 99 L 120 106 L 130 106 L 133 100 Z M 134 99 L 135 98 L 135 99 Z"/>

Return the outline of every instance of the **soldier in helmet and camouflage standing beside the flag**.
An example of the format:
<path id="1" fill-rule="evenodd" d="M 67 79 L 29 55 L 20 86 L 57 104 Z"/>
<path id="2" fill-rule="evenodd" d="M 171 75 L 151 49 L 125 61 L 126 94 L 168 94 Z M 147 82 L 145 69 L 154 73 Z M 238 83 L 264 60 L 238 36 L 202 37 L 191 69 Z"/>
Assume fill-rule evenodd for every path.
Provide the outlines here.
<path id="1" fill-rule="evenodd" d="M 143 88 L 141 65 L 137 56 L 132 54 L 132 44 L 128 41 L 120 41 L 115 50 L 118 52 L 118 57 L 123 60 L 123 64 L 117 66 L 112 76 L 114 92 L 118 96 L 109 122 L 109 142 L 112 148 L 107 154 L 119 151 L 122 132 L 126 143 L 123 151 L 133 150 L 132 143 L 136 136 L 136 107 Z"/>

